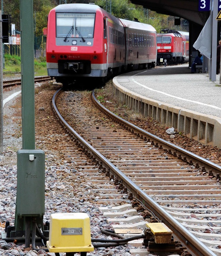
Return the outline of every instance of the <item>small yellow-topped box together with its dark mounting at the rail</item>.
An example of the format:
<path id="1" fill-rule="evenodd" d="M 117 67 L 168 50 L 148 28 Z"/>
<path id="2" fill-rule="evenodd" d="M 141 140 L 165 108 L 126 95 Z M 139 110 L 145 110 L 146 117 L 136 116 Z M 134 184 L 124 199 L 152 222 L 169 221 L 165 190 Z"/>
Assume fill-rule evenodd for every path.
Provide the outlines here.
<path id="1" fill-rule="evenodd" d="M 186 255 L 186 247 L 182 247 L 182 244 L 174 241 L 172 233 L 172 230 L 162 222 L 147 223 L 144 229 L 143 246 L 150 253 L 161 252 Z M 188 255 L 190 256 L 189 253 Z"/>

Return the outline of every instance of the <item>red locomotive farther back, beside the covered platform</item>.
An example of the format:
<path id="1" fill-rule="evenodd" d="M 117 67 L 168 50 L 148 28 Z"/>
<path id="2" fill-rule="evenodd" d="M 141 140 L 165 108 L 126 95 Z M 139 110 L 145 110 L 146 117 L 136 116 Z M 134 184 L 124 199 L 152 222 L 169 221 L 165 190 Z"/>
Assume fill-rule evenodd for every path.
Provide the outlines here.
<path id="1" fill-rule="evenodd" d="M 157 34 L 157 65 L 165 59 L 168 64 L 189 61 L 189 32 L 161 29 Z"/>

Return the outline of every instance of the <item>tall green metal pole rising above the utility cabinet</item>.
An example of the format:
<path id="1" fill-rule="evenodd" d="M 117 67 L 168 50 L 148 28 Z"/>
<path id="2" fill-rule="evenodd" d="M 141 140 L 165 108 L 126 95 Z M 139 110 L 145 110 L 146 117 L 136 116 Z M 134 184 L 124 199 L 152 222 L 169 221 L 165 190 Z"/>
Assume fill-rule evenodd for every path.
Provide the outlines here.
<path id="1" fill-rule="evenodd" d="M 20 0 L 22 149 L 35 149 L 33 0 Z"/>

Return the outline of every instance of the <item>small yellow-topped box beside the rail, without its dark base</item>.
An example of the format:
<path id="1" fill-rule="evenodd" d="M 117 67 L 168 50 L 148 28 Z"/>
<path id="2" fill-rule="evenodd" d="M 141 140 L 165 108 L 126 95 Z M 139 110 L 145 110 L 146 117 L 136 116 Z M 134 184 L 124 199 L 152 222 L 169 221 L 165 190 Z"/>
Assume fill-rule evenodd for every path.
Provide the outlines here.
<path id="1" fill-rule="evenodd" d="M 173 231 L 162 222 L 147 223 L 146 226 L 151 229 L 156 244 L 170 244 Z"/>

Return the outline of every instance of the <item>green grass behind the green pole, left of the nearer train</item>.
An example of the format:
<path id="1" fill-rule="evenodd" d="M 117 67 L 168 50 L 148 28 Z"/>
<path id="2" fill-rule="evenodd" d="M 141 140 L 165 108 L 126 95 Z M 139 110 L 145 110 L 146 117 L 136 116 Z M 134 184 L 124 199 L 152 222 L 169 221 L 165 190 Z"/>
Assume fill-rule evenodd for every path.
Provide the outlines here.
<path id="1" fill-rule="evenodd" d="M 19 56 L 5 54 L 3 72 L 21 72 L 21 58 Z M 47 76 L 45 57 L 34 60 L 34 72 L 35 76 Z"/>

